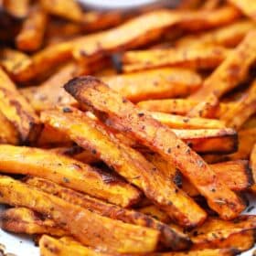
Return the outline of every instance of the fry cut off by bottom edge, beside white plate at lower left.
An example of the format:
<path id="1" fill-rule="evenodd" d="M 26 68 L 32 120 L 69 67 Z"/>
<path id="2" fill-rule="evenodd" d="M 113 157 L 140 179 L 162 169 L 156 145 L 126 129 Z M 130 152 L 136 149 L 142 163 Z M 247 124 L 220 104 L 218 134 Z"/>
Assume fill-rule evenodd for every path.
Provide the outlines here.
<path id="1" fill-rule="evenodd" d="M 57 240 L 49 236 L 43 236 L 39 240 L 41 256 L 111 256 L 113 254 L 93 251 L 89 247 L 79 243 L 73 244 L 63 240 Z"/>

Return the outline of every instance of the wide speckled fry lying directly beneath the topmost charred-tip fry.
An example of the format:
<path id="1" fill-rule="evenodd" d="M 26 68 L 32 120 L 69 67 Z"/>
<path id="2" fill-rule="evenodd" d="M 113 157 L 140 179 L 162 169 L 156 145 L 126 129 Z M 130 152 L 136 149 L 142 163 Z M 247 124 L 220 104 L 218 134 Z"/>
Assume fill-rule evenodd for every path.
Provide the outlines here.
<path id="1" fill-rule="evenodd" d="M 166 180 L 155 165 L 143 155 L 125 145 L 102 123 L 92 120 L 84 113 L 70 109 L 69 112 L 42 112 L 43 123 L 59 129 L 85 149 L 112 167 L 130 183 L 140 187 L 146 197 L 163 208 L 168 215 L 183 226 L 194 226 L 206 218 L 206 213 L 174 182 Z"/>

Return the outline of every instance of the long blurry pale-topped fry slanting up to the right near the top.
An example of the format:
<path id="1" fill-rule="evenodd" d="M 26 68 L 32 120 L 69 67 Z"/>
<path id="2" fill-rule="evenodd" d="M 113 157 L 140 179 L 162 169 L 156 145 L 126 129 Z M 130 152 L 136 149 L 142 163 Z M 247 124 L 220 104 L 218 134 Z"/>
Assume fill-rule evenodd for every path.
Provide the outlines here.
<path id="1" fill-rule="evenodd" d="M 165 9 L 134 17 L 119 27 L 81 37 L 73 55 L 75 59 L 88 61 L 117 49 L 142 46 L 161 37 L 166 28 L 176 25 L 180 19 L 180 14 Z"/>

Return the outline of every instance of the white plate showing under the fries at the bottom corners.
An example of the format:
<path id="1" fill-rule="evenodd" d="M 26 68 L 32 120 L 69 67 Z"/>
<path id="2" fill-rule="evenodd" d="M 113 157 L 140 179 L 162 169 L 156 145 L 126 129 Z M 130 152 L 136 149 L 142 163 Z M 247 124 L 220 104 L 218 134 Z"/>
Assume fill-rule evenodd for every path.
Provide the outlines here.
<path id="1" fill-rule="evenodd" d="M 245 214 L 256 214 L 256 198 L 251 198 L 250 207 L 255 206 L 251 212 Z M 34 242 L 27 237 L 17 236 L 0 229 L 0 244 L 5 245 L 5 252 L 14 253 L 16 256 L 39 256 L 39 250 L 35 246 Z M 251 249 L 251 251 L 246 251 L 242 253 L 242 256 L 251 256 L 252 252 L 256 250 Z"/>

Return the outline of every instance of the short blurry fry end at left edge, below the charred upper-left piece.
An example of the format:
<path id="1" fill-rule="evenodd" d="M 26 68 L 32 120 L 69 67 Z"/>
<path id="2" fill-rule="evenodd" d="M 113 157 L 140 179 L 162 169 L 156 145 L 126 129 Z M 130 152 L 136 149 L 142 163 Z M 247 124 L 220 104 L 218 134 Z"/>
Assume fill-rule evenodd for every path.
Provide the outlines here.
<path id="1" fill-rule="evenodd" d="M 21 65 L 27 66 L 31 64 L 31 59 L 25 53 L 12 48 L 3 48 L 0 51 L 0 66 L 5 69 L 8 74 L 13 74 L 15 69 Z"/>

